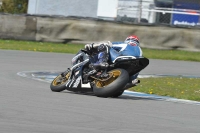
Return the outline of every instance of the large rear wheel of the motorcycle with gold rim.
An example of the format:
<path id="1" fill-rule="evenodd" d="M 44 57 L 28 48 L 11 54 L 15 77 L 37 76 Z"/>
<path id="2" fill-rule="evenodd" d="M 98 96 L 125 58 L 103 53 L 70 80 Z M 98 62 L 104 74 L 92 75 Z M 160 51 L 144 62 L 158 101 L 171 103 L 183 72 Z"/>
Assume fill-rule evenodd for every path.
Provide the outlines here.
<path id="1" fill-rule="evenodd" d="M 117 97 L 129 80 L 129 74 L 124 69 L 114 69 L 108 74 L 108 79 L 95 80 L 93 92 L 98 97 Z"/>

